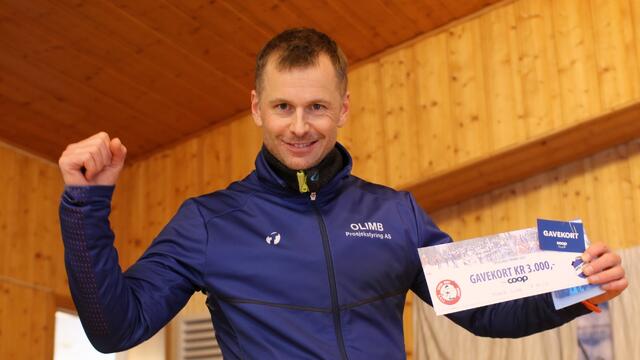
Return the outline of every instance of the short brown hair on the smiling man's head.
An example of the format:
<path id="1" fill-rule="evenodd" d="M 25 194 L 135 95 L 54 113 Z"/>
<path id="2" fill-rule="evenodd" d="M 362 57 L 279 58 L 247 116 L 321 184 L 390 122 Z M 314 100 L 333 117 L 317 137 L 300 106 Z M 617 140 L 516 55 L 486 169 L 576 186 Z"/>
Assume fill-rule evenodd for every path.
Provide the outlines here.
<path id="1" fill-rule="evenodd" d="M 336 71 L 342 94 L 347 91 L 347 57 L 327 34 L 310 28 L 288 29 L 273 37 L 260 50 L 256 59 L 255 86 L 258 94 L 263 87 L 263 73 L 271 55 L 277 56 L 279 70 L 305 68 L 317 64 L 320 54 L 326 54 Z"/>

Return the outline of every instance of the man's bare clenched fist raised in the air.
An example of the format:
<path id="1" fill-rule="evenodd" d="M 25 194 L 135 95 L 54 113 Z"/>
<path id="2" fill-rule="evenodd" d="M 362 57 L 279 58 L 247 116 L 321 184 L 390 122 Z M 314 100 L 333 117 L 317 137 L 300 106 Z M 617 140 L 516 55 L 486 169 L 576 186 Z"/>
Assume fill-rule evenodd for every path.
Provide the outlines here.
<path id="1" fill-rule="evenodd" d="M 67 146 L 58 165 L 65 185 L 114 185 L 124 166 L 127 148 L 106 132 Z"/>

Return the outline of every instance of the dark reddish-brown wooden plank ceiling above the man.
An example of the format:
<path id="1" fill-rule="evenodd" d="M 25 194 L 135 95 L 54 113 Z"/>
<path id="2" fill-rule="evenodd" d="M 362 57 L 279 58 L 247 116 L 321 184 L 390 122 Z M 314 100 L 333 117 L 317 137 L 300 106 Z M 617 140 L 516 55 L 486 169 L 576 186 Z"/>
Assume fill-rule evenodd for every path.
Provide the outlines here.
<path id="1" fill-rule="evenodd" d="M 499 0 L 2 0 L 0 140 L 55 161 L 100 130 L 135 158 L 249 108 L 254 59 L 315 27 L 351 64 Z"/>

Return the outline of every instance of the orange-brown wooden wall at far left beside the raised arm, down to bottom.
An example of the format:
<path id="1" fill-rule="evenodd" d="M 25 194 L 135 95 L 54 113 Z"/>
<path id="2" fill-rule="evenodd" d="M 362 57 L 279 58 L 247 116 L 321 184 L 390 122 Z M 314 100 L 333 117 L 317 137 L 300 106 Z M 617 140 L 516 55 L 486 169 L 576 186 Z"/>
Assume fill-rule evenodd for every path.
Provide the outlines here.
<path id="1" fill-rule="evenodd" d="M 68 304 L 57 166 L 0 143 L 0 359 L 51 359 Z"/>

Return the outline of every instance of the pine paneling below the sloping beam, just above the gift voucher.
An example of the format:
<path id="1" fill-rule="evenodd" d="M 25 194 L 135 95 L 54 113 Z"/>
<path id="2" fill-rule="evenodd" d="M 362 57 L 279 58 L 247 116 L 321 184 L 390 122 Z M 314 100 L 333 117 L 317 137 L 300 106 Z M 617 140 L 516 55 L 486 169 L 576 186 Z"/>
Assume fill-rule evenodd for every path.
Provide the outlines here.
<path id="1" fill-rule="evenodd" d="M 592 242 L 612 248 L 637 246 L 638 164 L 640 140 L 634 140 L 436 211 L 432 217 L 458 240 L 532 227 L 537 218 L 581 218 Z"/>

